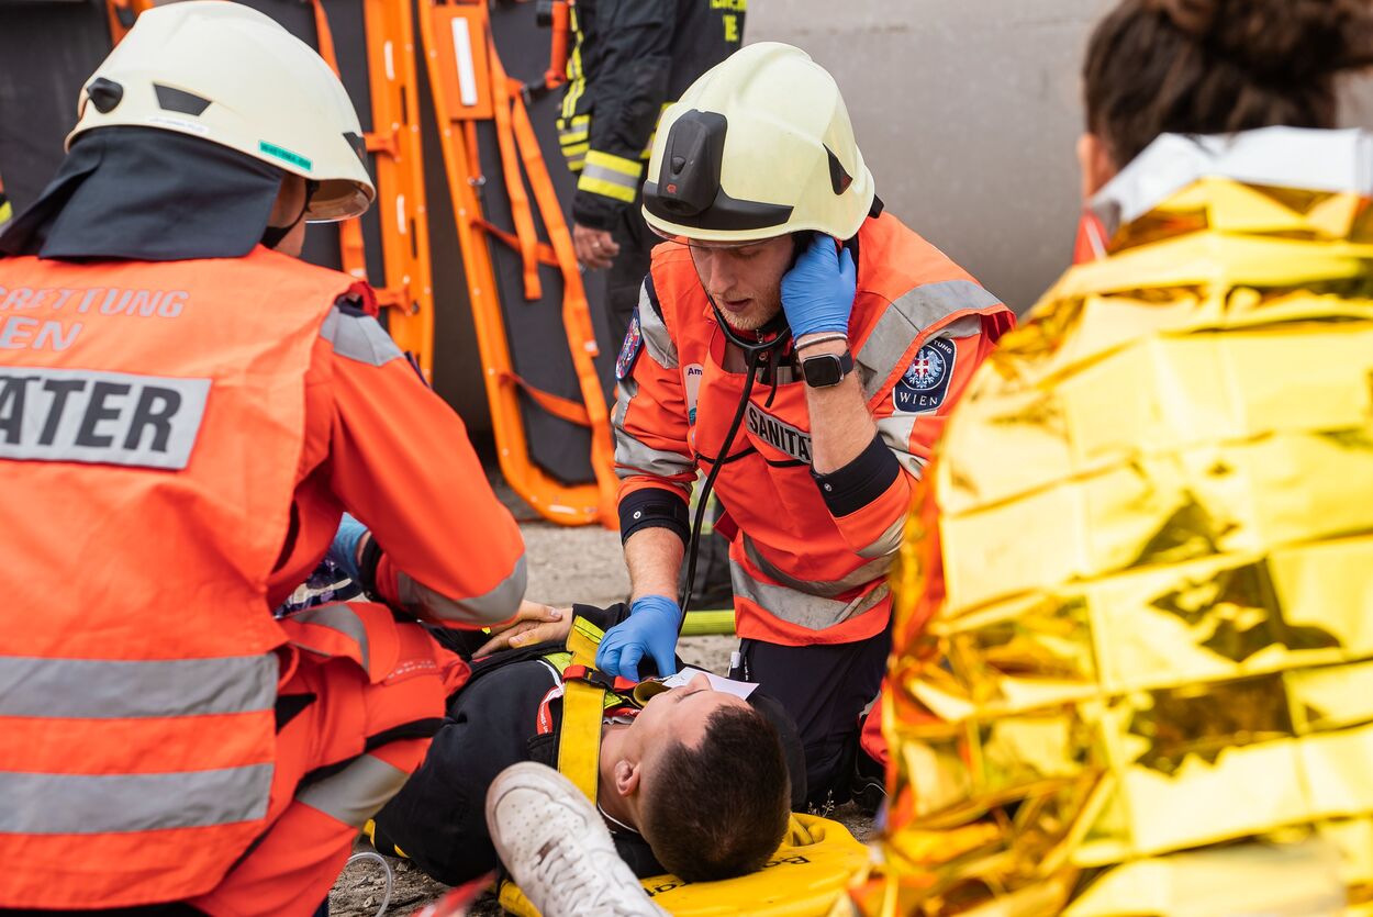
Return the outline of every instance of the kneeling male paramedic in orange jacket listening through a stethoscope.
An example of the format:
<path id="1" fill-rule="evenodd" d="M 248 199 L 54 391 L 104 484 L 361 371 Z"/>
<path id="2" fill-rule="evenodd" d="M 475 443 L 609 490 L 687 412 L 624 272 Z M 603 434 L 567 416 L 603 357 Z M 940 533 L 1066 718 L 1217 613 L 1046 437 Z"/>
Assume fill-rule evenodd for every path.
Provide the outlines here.
<path id="1" fill-rule="evenodd" d="M 736 52 L 667 110 L 644 213 L 677 242 L 654 253 L 616 368 L 633 614 L 597 663 L 670 670 L 686 501 L 718 464 L 735 677 L 796 719 L 811 802 L 843 800 L 912 486 L 1012 316 L 881 213 L 833 78 L 788 45 Z"/>

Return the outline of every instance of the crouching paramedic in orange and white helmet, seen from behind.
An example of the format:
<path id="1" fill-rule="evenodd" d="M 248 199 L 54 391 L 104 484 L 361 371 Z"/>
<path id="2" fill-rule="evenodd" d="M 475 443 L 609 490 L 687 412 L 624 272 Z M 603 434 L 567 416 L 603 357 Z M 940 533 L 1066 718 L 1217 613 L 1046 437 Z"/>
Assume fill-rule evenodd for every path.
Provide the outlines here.
<path id="1" fill-rule="evenodd" d="M 313 51 L 158 7 L 81 113 L 0 236 L 0 912 L 310 914 L 465 675 L 402 622 L 509 618 L 520 535 L 367 287 L 291 257 L 375 196 Z M 384 604 L 275 620 L 345 509 Z"/>

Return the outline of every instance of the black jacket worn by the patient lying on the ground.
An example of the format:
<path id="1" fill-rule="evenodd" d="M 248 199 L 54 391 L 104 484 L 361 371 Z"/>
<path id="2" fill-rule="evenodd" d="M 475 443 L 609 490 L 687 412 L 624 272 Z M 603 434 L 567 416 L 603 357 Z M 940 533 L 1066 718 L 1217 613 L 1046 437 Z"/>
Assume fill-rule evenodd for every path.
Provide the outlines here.
<path id="1" fill-rule="evenodd" d="M 577 605 L 575 614 L 608 630 L 627 618 L 629 610 L 622 604 Z M 463 634 L 443 631 L 437 637 L 454 651 L 464 651 Z M 475 637 L 486 640 L 482 634 L 465 640 Z M 560 697 L 546 704 L 545 700 L 562 678 L 545 655 L 557 649 L 556 644 L 542 644 L 474 663 L 471 680 L 449 699 L 448 718 L 434 736 L 424 763 L 376 815 L 378 850 L 404 852 L 426 873 L 452 885 L 497 869 L 486 828 L 486 791 L 514 763 L 535 761 L 556 766 L 563 708 Z M 794 781 L 800 781 L 792 785 L 792 802 L 803 800 L 806 770 L 795 725 L 776 701 L 755 693 L 750 703 L 777 730 L 787 770 L 795 776 Z M 551 722 L 544 732 L 538 723 L 541 707 Z M 784 774 L 781 782 L 785 780 Z M 670 872 L 641 835 L 614 826 L 611 835 L 621 858 L 637 876 Z"/>

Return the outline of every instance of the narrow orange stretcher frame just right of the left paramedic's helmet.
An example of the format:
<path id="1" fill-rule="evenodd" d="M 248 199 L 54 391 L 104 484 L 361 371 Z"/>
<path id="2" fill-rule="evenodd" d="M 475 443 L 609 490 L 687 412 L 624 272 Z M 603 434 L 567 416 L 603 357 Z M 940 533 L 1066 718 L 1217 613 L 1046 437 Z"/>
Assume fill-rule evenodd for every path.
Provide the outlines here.
<path id="1" fill-rule="evenodd" d="M 334 34 L 320 0 L 312 0 L 320 55 L 338 71 Z M 386 287 L 376 298 L 387 309 L 387 328 L 401 350 L 415 354 L 426 379 L 434 375 L 434 288 L 420 150 L 419 78 L 415 70 L 415 22 L 408 3 L 362 0 L 367 67 L 372 93 L 376 210 L 382 229 Z M 339 225 L 343 270 L 367 280 L 362 224 Z"/>

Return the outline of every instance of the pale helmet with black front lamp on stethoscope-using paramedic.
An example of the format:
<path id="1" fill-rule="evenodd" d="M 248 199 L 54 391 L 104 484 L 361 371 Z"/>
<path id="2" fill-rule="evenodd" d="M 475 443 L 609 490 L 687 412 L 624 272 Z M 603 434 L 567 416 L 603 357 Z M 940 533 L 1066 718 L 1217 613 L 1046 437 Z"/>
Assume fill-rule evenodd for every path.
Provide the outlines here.
<path id="1" fill-rule="evenodd" d="M 835 78 L 776 41 L 736 51 L 663 113 L 644 183 L 655 232 L 715 244 L 807 229 L 850 239 L 872 203 Z"/>

